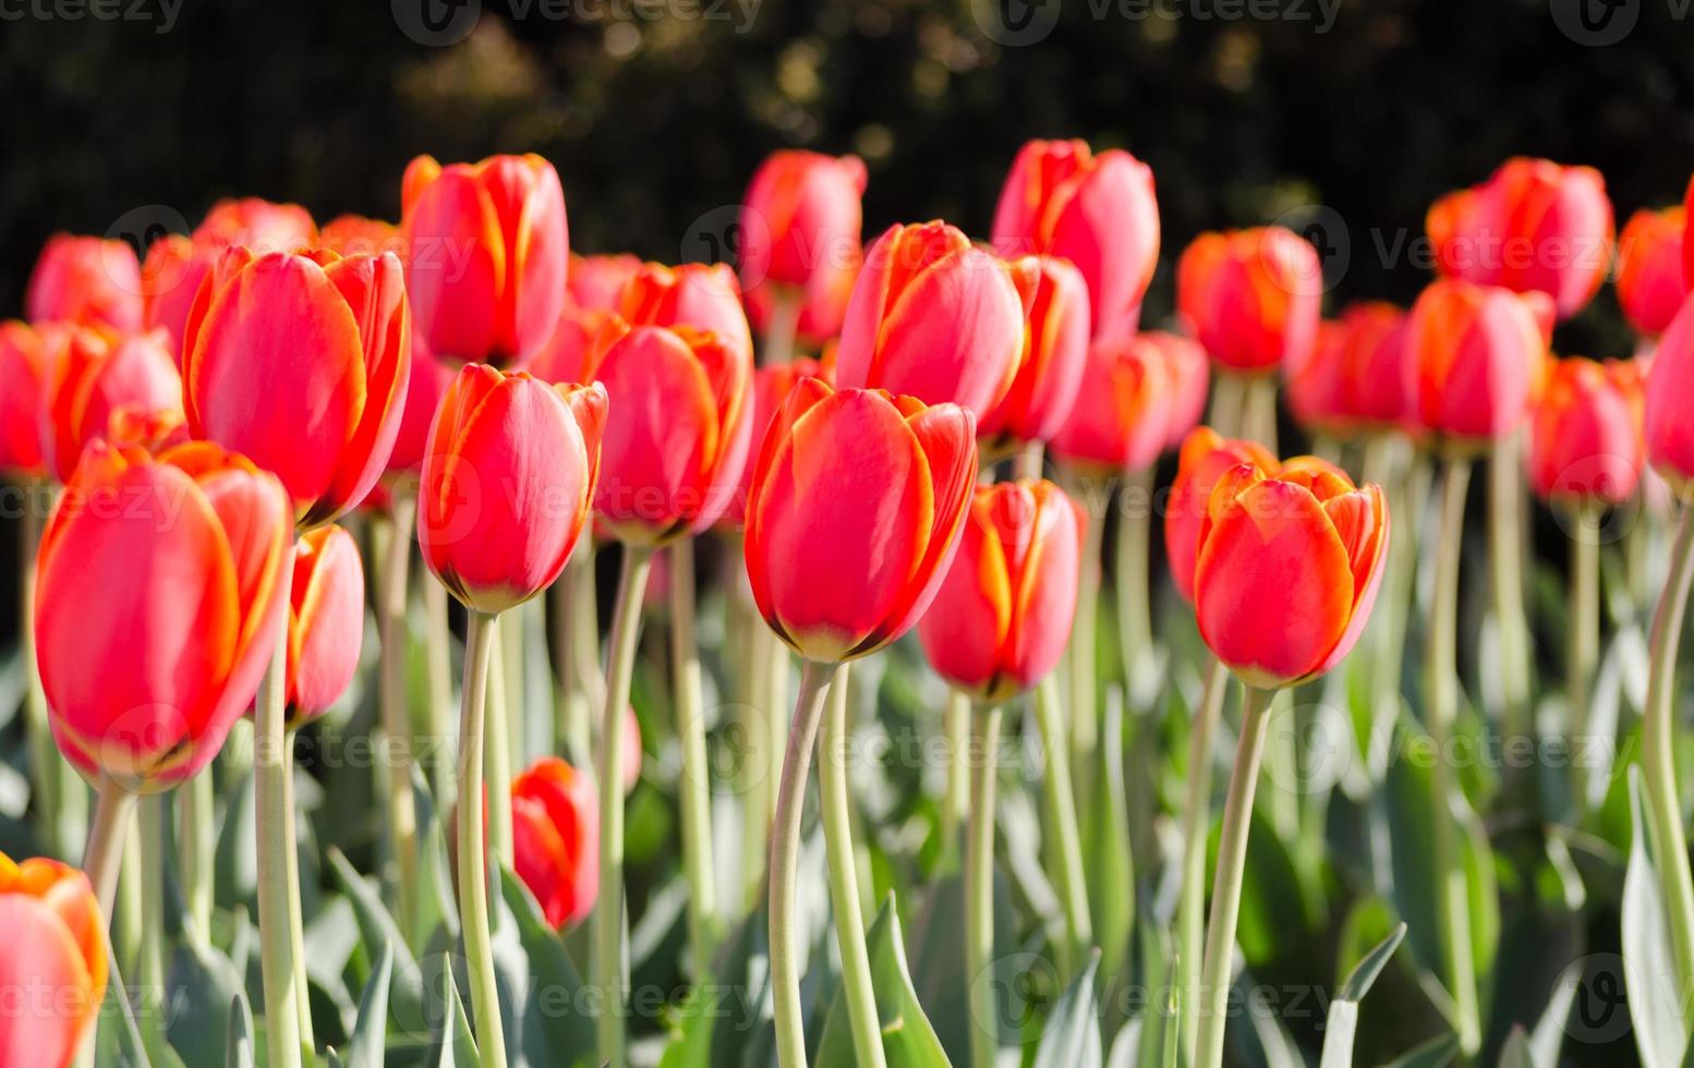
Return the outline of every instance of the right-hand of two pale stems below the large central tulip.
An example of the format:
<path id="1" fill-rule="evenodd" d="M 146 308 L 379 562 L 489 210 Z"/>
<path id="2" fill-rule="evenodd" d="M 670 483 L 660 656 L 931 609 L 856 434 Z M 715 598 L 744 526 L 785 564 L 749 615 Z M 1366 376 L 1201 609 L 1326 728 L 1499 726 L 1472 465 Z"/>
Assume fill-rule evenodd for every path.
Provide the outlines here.
<path id="1" fill-rule="evenodd" d="M 842 992 L 847 995 L 847 1022 L 852 1031 L 855 1063 L 862 1068 L 886 1068 L 883 1022 L 876 1012 L 876 985 L 871 978 L 871 955 L 864 944 L 864 912 L 859 902 L 859 865 L 852 841 L 852 801 L 849 772 L 852 738 L 847 724 L 847 679 L 844 663 L 830 682 L 828 706 L 818 740 L 818 799 L 823 809 L 823 850 L 830 868 L 830 912 L 835 917 L 835 944 L 842 956 Z"/>

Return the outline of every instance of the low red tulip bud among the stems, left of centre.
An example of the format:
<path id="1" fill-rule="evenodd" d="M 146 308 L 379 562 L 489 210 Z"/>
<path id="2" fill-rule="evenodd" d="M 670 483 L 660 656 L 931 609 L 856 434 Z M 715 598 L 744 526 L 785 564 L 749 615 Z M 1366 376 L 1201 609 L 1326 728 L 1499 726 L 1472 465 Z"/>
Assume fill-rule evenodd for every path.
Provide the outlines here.
<path id="1" fill-rule="evenodd" d="M 547 924 L 562 931 L 581 922 L 600 884 L 595 784 L 557 757 L 532 763 L 512 780 L 512 846 L 517 877 Z"/>

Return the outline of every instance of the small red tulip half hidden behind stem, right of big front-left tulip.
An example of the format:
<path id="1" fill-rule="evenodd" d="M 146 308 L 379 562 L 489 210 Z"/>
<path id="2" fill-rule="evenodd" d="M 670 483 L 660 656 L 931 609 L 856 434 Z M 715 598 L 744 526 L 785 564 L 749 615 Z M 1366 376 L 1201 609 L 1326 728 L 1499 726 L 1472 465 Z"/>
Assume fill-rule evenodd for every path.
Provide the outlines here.
<path id="1" fill-rule="evenodd" d="M 288 604 L 288 723 L 322 716 L 359 670 L 364 643 L 364 565 L 340 526 L 318 526 L 295 543 Z"/>

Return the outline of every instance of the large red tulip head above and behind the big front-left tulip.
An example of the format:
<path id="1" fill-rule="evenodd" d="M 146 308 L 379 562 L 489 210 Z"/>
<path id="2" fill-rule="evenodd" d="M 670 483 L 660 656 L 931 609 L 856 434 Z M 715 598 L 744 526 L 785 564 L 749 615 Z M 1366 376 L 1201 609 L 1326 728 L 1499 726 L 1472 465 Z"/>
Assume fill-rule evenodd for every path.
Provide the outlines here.
<path id="1" fill-rule="evenodd" d="M 329 523 L 388 465 L 412 374 L 408 323 L 391 254 L 229 249 L 188 317 L 188 427 L 274 471 L 302 530 Z"/>

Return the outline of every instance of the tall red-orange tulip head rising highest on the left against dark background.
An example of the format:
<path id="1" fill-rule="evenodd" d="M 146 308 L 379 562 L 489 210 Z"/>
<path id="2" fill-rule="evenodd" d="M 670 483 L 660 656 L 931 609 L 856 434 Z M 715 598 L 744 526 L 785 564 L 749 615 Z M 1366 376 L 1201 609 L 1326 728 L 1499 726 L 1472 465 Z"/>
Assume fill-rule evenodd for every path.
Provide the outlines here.
<path id="1" fill-rule="evenodd" d="M 418 342 L 454 364 L 522 367 L 559 322 L 569 232 L 540 156 L 407 166 L 400 232 Z"/>

